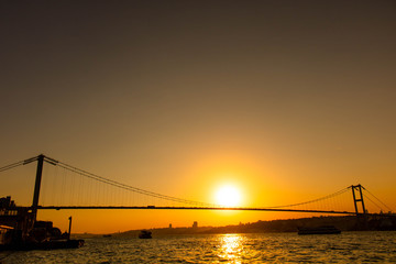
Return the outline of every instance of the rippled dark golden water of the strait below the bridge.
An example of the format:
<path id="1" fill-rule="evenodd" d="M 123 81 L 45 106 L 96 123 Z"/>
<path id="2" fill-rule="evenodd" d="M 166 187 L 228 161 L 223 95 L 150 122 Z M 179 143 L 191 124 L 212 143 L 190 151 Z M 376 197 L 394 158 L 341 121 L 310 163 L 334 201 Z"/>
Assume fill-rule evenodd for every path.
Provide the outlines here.
<path id="1" fill-rule="evenodd" d="M 87 239 L 77 250 L 0 253 L 1 263 L 396 263 L 396 232 Z"/>

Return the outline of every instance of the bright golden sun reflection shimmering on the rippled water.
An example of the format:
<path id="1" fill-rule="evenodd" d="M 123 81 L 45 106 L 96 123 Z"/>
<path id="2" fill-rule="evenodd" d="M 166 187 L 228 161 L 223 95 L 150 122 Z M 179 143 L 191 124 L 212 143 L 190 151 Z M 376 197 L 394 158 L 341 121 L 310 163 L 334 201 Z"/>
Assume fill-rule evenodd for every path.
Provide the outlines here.
<path id="1" fill-rule="evenodd" d="M 219 256 L 224 261 L 241 263 L 243 238 L 240 234 L 224 234 L 220 238 Z"/>

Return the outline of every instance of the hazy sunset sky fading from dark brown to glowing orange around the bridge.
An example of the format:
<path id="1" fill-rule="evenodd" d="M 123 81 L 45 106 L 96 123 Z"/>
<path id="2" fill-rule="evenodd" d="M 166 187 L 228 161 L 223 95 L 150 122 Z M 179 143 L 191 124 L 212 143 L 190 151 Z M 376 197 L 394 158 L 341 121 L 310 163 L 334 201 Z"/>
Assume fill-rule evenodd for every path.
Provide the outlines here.
<path id="1" fill-rule="evenodd" d="M 391 0 L 1 1 L 0 166 L 44 153 L 204 202 L 230 184 L 241 206 L 362 184 L 396 210 L 395 13 Z M 0 178 L 0 197 L 33 193 Z M 76 232 L 280 217 L 41 213 L 62 228 L 72 213 Z"/>

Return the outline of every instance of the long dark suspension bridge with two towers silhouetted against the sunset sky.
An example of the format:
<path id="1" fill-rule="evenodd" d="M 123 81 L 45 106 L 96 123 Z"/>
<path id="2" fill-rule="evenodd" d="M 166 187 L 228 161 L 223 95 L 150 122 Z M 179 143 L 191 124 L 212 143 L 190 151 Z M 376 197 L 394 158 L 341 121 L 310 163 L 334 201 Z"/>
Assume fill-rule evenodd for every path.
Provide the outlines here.
<path id="1" fill-rule="evenodd" d="M 208 204 L 208 202 L 201 202 L 196 200 L 182 199 L 173 196 L 162 195 L 158 193 L 125 185 L 116 182 L 113 179 L 105 178 L 102 176 L 70 166 L 63 162 L 47 157 L 43 154 L 0 167 L 0 173 L 16 168 L 19 166 L 31 164 L 33 162 L 37 162 L 37 167 L 36 167 L 36 176 L 34 184 L 33 202 L 31 206 L 29 206 L 29 209 L 33 212 L 34 216 L 36 216 L 37 210 L 54 210 L 54 209 L 55 210 L 61 210 L 61 209 L 239 210 L 239 211 L 310 212 L 310 213 L 324 213 L 324 215 L 367 215 L 369 212 L 365 205 L 366 200 L 372 202 L 372 205 L 374 205 L 380 210 L 380 212 L 392 211 L 389 207 L 387 207 L 376 196 L 374 196 L 372 193 L 370 193 L 366 188 L 364 188 L 360 184 L 351 185 L 328 196 L 323 196 L 305 202 L 290 204 L 284 206 L 271 206 L 271 207 L 222 207 L 215 204 Z M 70 197 L 74 198 L 75 196 L 77 196 L 77 198 L 75 199 L 76 201 L 70 202 L 66 200 L 66 202 L 63 201 L 56 205 L 54 201 L 56 199 L 50 199 L 51 200 L 50 205 L 43 205 L 40 202 L 42 183 L 43 180 L 45 182 L 45 177 L 43 177 L 44 164 L 48 165 L 46 167 L 56 167 L 63 169 L 64 172 L 62 175 L 63 180 L 61 187 L 55 188 L 55 184 L 53 184 L 52 188 L 47 188 L 53 190 L 54 193 L 53 196 L 57 197 L 61 193 L 66 193 L 65 186 L 70 186 L 69 189 L 73 194 L 68 194 L 68 195 L 64 194 L 64 195 L 69 198 Z M 54 183 L 59 180 L 58 174 L 59 173 L 53 173 Z M 50 175 L 51 173 L 46 176 Z M 81 183 L 84 183 L 85 186 L 78 187 L 76 186 L 76 182 L 78 182 L 80 185 L 82 185 Z M 48 185 L 48 183 L 46 184 Z M 110 196 L 112 196 L 112 198 L 120 197 L 120 194 L 122 193 L 124 198 L 127 197 L 127 201 L 125 199 L 123 201 L 118 200 L 116 201 L 116 204 L 123 204 L 123 205 L 117 205 L 117 206 L 109 204 L 109 200 L 114 200 L 114 199 L 109 199 L 109 194 L 108 194 L 109 188 L 111 188 L 112 193 L 110 194 Z M 80 190 L 78 195 L 74 195 L 76 189 Z M 352 206 L 349 207 L 352 209 L 345 210 L 345 209 L 334 208 L 336 207 L 334 200 L 339 199 L 339 201 L 340 200 L 342 200 L 343 202 L 346 201 L 344 197 L 345 195 L 350 196 L 349 200 L 351 202 L 348 204 Z M 133 197 L 133 199 L 131 199 L 131 196 Z M 160 200 L 162 202 L 164 201 L 170 202 L 173 205 L 172 206 L 153 205 L 148 200 L 142 201 L 134 199 L 138 196 L 156 199 L 157 201 Z M 58 200 L 59 199 L 63 198 L 58 198 Z M 99 202 L 101 205 L 96 205 L 96 202 L 97 204 Z M 144 202 L 146 204 L 144 205 Z M 327 207 L 328 209 L 315 208 L 315 206 L 320 204 L 321 205 L 329 204 L 333 208 L 330 209 L 329 207 Z"/>

